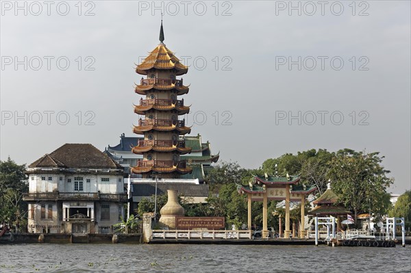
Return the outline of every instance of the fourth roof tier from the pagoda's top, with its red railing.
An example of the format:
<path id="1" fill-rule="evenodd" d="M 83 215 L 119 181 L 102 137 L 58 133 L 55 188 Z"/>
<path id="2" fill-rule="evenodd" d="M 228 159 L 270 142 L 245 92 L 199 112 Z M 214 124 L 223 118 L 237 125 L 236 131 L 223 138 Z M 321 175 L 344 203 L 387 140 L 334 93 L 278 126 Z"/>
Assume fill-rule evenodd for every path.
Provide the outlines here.
<path id="1" fill-rule="evenodd" d="M 191 132 L 191 127 L 186 127 L 184 120 L 160 120 L 158 118 L 138 120 L 138 126 L 134 126 L 133 132 L 144 135 L 148 131 L 177 131 L 180 135 Z"/>

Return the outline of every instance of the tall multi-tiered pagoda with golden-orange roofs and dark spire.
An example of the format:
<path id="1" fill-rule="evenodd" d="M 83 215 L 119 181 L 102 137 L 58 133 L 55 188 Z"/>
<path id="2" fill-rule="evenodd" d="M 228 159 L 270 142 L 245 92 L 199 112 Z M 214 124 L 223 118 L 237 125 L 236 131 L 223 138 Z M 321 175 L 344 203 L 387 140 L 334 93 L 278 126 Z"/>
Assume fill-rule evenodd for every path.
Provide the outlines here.
<path id="1" fill-rule="evenodd" d="M 180 155 L 190 153 L 191 148 L 186 147 L 179 135 L 190 133 L 191 129 L 178 117 L 188 114 L 190 107 L 184 105 L 184 99 L 177 99 L 187 94 L 189 88 L 184 86 L 183 79 L 176 77 L 187 71 L 188 67 L 164 44 L 161 23 L 160 44 L 136 67 L 136 73 L 146 78 L 142 77 L 136 85 L 136 93 L 145 98 L 134 105 L 134 112 L 144 119 L 139 118 L 133 131 L 144 139 L 132 148 L 133 153 L 142 155 L 142 160 L 131 171 L 142 174 L 142 178 L 149 178 L 155 172 L 161 173 L 162 178 L 174 179 L 192 171 L 186 161 L 180 159 Z"/>

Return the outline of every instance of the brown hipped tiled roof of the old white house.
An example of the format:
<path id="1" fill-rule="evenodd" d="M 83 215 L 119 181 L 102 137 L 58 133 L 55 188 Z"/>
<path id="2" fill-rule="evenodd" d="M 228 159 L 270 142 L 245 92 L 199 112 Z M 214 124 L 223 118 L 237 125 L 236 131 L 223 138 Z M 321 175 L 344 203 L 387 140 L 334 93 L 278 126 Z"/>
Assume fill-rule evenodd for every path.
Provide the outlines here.
<path id="1" fill-rule="evenodd" d="M 92 144 L 64 144 L 29 165 L 38 167 L 123 168 Z"/>

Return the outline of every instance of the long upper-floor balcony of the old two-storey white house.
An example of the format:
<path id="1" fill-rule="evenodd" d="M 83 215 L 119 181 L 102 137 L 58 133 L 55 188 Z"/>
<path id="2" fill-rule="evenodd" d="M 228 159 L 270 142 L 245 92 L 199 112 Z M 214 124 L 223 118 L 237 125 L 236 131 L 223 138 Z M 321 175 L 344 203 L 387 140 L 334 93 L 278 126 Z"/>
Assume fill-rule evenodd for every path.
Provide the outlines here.
<path id="1" fill-rule="evenodd" d="M 127 202 L 127 194 L 103 194 L 101 192 L 29 192 L 23 194 L 23 200 L 100 200 Z"/>

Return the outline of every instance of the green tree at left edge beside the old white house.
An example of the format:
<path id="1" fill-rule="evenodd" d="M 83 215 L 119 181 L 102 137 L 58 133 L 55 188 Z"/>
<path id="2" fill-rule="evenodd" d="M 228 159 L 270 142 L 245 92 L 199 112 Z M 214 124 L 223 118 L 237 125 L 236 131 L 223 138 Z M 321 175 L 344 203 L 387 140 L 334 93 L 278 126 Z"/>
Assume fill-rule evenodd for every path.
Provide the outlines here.
<path id="1" fill-rule="evenodd" d="M 27 203 L 23 193 L 28 191 L 25 165 L 18 165 L 10 157 L 0 161 L 0 222 L 16 227 L 27 225 Z"/>

